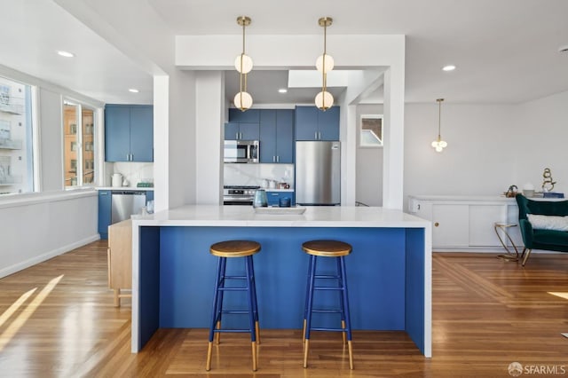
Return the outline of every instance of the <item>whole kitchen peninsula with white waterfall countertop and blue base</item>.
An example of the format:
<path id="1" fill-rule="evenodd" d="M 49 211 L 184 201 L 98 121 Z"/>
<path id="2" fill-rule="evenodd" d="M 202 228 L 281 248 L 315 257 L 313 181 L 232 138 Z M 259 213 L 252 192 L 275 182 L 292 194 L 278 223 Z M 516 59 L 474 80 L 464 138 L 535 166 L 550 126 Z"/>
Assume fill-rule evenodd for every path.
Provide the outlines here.
<path id="1" fill-rule="evenodd" d="M 353 329 L 405 331 L 431 357 L 428 221 L 383 208 L 307 207 L 285 215 L 198 205 L 132 224 L 132 352 L 160 327 L 209 327 L 217 264 L 209 246 L 221 240 L 262 245 L 255 256 L 261 327 L 301 328 L 308 264 L 302 242 L 335 239 L 353 246 L 346 259 Z"/>

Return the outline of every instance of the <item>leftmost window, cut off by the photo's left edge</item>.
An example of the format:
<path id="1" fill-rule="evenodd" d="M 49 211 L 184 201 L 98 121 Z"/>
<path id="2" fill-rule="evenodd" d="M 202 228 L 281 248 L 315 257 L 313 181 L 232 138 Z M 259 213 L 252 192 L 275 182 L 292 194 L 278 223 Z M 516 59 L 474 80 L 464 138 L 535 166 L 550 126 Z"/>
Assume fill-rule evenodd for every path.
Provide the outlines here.
<path id="1" fill-rule="evenodd" d="M 36 87 L 0 77 L 0 194 L 34 191 Z"/>

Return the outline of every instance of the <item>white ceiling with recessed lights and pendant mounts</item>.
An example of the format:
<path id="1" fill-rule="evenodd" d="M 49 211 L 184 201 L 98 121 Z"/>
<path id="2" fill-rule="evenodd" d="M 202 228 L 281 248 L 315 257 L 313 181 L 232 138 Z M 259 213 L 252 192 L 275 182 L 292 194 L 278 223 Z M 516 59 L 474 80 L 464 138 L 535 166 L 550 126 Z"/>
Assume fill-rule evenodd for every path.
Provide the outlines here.
<path id="1" fill-rule="evenodd" d="M 566 0 L 145 1 L 176 35 L 240 34 L 235 20 L 241 14 L 253 20 L 248 35 L 321 34 L 321 16 L 334 18 L 328 41 L 404 34 L 406 102 L 517 103 L 568 91 L 568 53 L 558 51 L 568 45 Z M 0 0 L 0 8 L 0 65 L 107 103 L 152 102 L 150 75 L 53 0 Z M 75 58 L 63 59 L 57 50 Z M 449 63 L 457 69 L 443 72 Z M 294 90 L 276 97 L 286 71 L 254 73 L 249 87 L 257 88 L 256 104 L 304 103 L 314 95 Z M 227 94 L 235 83 L 228 72 Z"/>

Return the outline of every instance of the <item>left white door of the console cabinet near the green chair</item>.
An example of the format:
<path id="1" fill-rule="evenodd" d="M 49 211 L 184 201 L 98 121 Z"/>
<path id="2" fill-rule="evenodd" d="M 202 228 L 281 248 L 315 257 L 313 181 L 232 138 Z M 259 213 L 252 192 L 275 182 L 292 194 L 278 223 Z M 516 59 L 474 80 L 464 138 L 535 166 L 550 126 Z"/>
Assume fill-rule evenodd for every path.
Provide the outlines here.
<path id="1" fill-rule="evenodd" d="M 469 245 L 469 206 L 432 206 L 432 245 L 467 247 Z M 438 225 L 437 225 L 438 224 Z"/>

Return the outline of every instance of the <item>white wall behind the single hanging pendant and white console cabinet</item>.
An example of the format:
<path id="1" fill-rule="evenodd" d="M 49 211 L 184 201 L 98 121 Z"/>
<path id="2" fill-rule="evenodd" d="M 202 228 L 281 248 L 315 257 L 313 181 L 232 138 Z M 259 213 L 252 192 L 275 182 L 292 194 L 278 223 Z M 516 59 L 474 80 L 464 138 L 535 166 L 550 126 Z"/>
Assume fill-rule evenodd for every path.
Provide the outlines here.
<path id="1" fill-rule="evenodd" d="M 568 191 L 568 92 L 517 105 L 442 105 L 438 154 L 438 105 L 406 104 L 405 198 L 409 194 L 500 195 L 552 169 L 556 192 Z M 406 209 L 406 206 L 405 206 Z"/>

